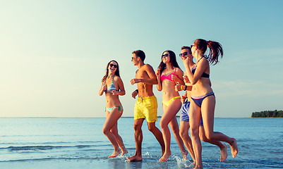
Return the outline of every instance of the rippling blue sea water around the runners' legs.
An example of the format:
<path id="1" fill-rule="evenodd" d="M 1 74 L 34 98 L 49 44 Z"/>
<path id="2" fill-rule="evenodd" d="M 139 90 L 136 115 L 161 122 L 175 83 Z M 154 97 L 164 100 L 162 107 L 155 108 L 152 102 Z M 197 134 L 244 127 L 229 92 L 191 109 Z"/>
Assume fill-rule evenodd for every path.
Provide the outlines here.
<path id="1" fill-rule="evenodd" d="M 0 168 L 193 168 L 171 135 L 172 155 L 159 162 L 160 146 L 143 124 L 143 161 L 108 158 L 112 144 L 105 118 L 0 118 Z M 159 121 L 157 121 L 159 127 Z M 217 146 L 203 142 L 204 168 L 283 168 L 283 118 L 215 118 L 215 131 L 237 139 L 239 154 L 220 163 Z M 119 119 L 119 134 L 133 156 L 133 118 Z M 228 148 L 230 152 L 231 149 Z M 191 160 L 191 157 L 188 155 Z"/>

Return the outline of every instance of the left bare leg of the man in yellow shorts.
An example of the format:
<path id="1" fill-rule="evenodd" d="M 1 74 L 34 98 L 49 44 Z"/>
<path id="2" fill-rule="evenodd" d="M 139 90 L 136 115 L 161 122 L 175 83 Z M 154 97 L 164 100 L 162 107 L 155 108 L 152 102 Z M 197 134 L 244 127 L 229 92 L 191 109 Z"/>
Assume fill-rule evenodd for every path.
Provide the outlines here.
<path id="1" fill-rule="evenodd" d="M 141 151 L 141 145 L 143 142 L 143 131 L 141 130 L 141 127 L 143 125 L 144 118 L 136 119 L 133 124 L 133 129 L 135 130 L 135 141 L 136 141 L 136 154 L 132 156 L 131 158 L 128 158 L 128 161 L 142 161 L 142 151 Z"/>

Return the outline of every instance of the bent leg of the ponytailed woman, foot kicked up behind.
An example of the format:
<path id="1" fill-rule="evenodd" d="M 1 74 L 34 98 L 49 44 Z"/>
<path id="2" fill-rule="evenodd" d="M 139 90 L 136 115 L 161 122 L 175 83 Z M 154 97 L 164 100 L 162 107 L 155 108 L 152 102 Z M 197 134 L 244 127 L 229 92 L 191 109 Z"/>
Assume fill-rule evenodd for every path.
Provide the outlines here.
<path id="1" fill-rule="evenodd" d="M 214 116 L 215 116 L 215 96 L 207 96 L 203 100 L 201 112 L 203 115 L 203 127 L 205 130 L 205 136 L 209 140 L 217 140 L 227 142 L 231 146 L 231 154 L 233 158 L 238 154 L 238 146 L 236 139 L 228 137 L 221 132 L 214 132 Z"/>

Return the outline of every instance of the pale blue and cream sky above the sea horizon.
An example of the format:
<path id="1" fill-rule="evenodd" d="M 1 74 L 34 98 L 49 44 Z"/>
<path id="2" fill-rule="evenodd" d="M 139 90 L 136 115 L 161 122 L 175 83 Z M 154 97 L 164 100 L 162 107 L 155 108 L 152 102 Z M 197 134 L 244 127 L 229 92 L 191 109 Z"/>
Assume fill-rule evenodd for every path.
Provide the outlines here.
<path id="1" fill-rule="evenodd" d="M 282 7 L 282 0 L 0 0 L 0 117 L 105 117 L 98 91 L 112 59 L 126 89 L 123 117 L 132 117 L 131 52 L 145 51 L 156 70 L 171 50 L 185 70 L 181 46 L 198 38 L 224 49 L 210 66 L 216 118 L 282 110 Z M 153 88 L 162 115 L 162 92 Z"/>

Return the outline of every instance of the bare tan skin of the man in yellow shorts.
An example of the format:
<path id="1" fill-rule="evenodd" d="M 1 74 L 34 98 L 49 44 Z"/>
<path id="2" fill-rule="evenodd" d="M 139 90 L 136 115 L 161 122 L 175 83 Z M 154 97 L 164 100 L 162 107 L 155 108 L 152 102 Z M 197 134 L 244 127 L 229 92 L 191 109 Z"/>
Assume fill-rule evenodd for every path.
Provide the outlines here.
<path id="1" fill-rule="evenodd" d="M 139 97 L 147 97 L 147 96 L 153 96 L 152 92 L 152 85 L 157 84 L 157 79 L 155 76 L 155 71 L 153 68 L 145 64 L 140 57 L 136 56 L 136 54 L 133 54 L 132 60 L 133 65 L 136 65 L 138 67 L 138 70 L 136 71 L 136 78 L 131 80 L 131 84 L 137 84 L 138 86 L 138 96 Z M 133 92 L 132 96 L 135 98 L 137 95 L 137 92 Z M 143 125 L 144 118 L 136 119 L 133 124 L 133 128 L 135 130 L 135 141 L 136 141 L 136 154 L 130 158 L 128 158 L 128 161 L 142 161 L 142 150 L 141 150 L 141 144 L 143 142 L 143 132 L 141 130 L 141 127 Z M 147 123 L 148 130 L 152 132 L 152 134 L 155 135 L 155 138 L 159 142 L 160 146 L 162 147 L 162 154 L 164 154 L 164 140 L 162 137 L 162 132 L 155 126 L 155 122 Z"/>

